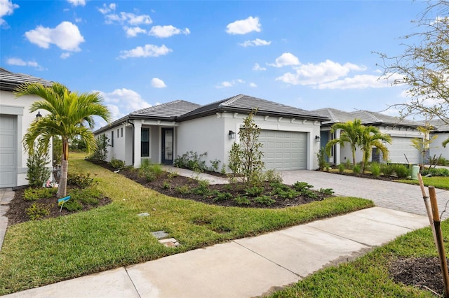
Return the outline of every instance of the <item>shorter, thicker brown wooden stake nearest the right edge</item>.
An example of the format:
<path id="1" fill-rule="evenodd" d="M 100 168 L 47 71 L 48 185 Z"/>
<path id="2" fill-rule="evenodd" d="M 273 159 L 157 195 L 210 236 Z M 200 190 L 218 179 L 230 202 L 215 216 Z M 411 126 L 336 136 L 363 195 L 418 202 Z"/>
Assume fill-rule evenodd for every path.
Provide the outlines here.
<path id="1" fill-rule="evenodd" d="M 448 262 L 446 262 L 446 253 L 444 250 L 443 234 L 441 232 L 441 221 L 438 213 L 438 204 L 436 203 L 436 192 L 434 186 L 429 186 L 430 204 L 432 207 L 432 214 L 434 215 L 434 226 L 436 234 L 436 247 L 438 249 L 438 255 L 440 257 L 441 274 L 443 274 L 444 283 L 444 296 L 449 297 L 449 274 L 448 274 Z"/>

